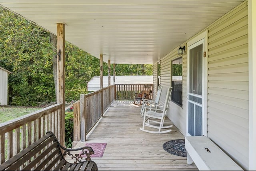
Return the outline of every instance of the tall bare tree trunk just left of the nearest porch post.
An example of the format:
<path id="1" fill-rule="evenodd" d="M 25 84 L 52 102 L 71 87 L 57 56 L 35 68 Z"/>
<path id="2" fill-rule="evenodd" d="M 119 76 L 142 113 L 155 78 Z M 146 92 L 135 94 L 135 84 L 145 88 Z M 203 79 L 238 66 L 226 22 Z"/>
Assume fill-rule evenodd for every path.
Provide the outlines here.
<path id="1" fill-rule="evenodd" d="M 52 56 L 53 60 L 53 78 L 54 78 L 54 85 L 55 85 L 55 101 L 57 100 L 57 36 L 50 33 L 50 42 L 52 44 L 52 52 L 54 52 L 54 55 Z"/>

